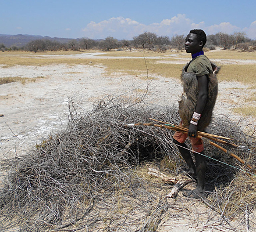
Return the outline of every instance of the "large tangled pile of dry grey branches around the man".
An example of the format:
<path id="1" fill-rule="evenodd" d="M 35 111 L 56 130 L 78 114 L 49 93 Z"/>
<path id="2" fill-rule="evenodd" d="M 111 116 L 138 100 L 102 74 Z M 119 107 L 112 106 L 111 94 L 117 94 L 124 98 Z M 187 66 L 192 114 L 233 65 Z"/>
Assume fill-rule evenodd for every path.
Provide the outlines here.
<path id="1" fill-rule="evenodd" d="M 90 113 L 72 99 L 69 108 L 65 130 L 50 135 L 25 157 L 9 161 L 9 175 L 0 195 L 1 229 L 17 224 L 20 231 L 154 230 L 172 206 L 163 198 L 163 184 L 146 178 L 141 167 L 150 162 L 177 175 L 186 165 L 171 142 L 172 131 L 125 125 L 148 122 L 149 117 L 178 124 L 176 107 L 145 107 L 106 97 Z M 255 150 L 253 138 L 226 118 L 218 118 L 210 129 Z M 217 148 L 206 145 L 206 150 L 205 154 L 216 160 L 246 169 Z M 256 166 L 252 153 L 233 152 Z M 253 209 L 256 195 L 243 198 L 245 182 L 240 181 L 240 186 L 234 182 L 250 179 L 247 190 L 255 191 L 254 176 L 216 160 L 208 160 L 207 183 L 215 190 L 206 204 L 227 217 L 237 216 L 237 208 L 240 212 L 248 206 Z M 234 186 L 242 197 L 233 204 L 230 189 L 233 193 Z"/>

